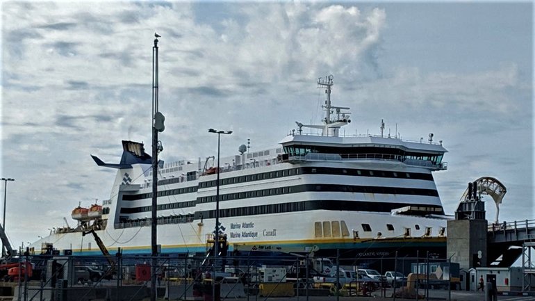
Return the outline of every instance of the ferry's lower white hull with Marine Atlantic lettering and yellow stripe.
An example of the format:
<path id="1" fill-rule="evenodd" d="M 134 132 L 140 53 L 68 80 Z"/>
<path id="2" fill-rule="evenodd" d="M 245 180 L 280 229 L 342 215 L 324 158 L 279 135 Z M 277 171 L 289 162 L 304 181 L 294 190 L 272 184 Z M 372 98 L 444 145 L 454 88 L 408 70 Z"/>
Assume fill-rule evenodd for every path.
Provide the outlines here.
<path id="1" fill-rule="evenodd" d="M 333 222 L 345 220 L 349 233 L 339 231 L 338 237 L 317 237 L 318 222 L 321 225 L 333 225 Z M 357 222 L 358 221 L 358 222 Z M 431 254 L 445 254 L 446 239 L 438 236 L 438 229 L 445 227 L 445 220 L 418 218 L 414 216 L 391 215 L 388 213 L 345 212 L 345 211 L 305 211 L 277 215 L 260 215 L 235 218 L 220 218 L 226 228 L 229 251 L 235 254 L 271 253 L 306 253 L 313 251 L 317 256 L 334 257 L 337 250 L 343 258 L 381 258 L 413 257 L 417 250 L 425 256 L 424 250 Z M 419 225 L 420 230 L 413 229 L 411 236 L 404 236 L 404 229 L 394 229 L 388 233 L 386 224 Z M 368 224 L 373 229 L 383 229 L 381 237 L 359 237 L 355 229 Z M 336 225 L 336 223 L 334 224 Z M 431 228 L 431 235 L 425 236 L 425 230 Z M 208 243 L 215 229 L 214 220 L 194 220 L 181 224 L 158 225 L 158 244 L 163 254 L 206 254 L 211 244 Z M 151 254 L 151 227 L 113 228 L 96 231 L 108 251 L 113 254 L 121 248 L 123 254 Z M 338 231 L 337 231 L 338 233 Z M 377 233 L 376 233 L 377 235 Z M 336 235 L 335 235 L 336 236 Z M 82 236 L 81 232 L 53 234 L 44 241 L 54 241 L 54 247 L 60 252 L 72 250 L 73 255 L 94 256 L 101 250 L 94 238 Z"/>

